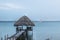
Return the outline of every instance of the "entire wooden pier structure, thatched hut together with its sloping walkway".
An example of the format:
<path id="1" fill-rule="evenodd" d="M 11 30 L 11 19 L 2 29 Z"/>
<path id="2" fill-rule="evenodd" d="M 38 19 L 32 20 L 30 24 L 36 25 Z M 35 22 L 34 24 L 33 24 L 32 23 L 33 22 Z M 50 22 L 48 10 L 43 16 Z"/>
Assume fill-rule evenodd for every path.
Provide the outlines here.
<path id="1" fill-rule="evenodd" d="M 4 39 L 1 38 L 1 40 L 32 40 L 33 26 L 35 26 L 35 24 L 27 16 L 21 17 L 18 21 L 16 21 L 14 26 L 16 27 L 16 33 L 11 37 L 8 37 L 7 35 Z M 26 29 L 23 28 L 25 26 Z M 32 31 L 31 37 L 29 36 L 29 31 Z"/>

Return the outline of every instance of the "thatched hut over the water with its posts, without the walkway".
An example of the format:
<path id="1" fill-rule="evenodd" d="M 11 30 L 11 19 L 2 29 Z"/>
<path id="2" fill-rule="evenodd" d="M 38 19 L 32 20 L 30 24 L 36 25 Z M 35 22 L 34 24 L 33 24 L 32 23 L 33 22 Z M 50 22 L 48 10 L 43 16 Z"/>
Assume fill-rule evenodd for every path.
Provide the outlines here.
<path id="1" fill-rule="evenodd" d="M 26 31 L 27 40 L 32 40 L 32 38 L 33 38 L 32 37 L 33 36 L 33 26 L 35 26 L 35 24 L 27 16 L 22 16 L 18 21 L 16 21 L 14 26 L 16 26 L 16 32 L 24 30 L 23 27 L 26 26 L 25 31 Z M 22 28 L 21 27 L 19 28 L 19 26 L 21 26 Z M 29 36 L 29 31 L 32 31 L 31 36 Z"/>

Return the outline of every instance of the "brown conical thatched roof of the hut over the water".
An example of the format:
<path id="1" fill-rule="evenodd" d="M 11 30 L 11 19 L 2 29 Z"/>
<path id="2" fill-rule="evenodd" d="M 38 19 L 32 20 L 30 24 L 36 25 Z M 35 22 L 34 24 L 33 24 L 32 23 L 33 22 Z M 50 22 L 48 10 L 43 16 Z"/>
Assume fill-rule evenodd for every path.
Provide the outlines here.
<path id="1" fill-rule="evenodd" d="M 27 16 L 23 16 L 14 24 L 14 26 L 35 26 L 35 24 Z"/>

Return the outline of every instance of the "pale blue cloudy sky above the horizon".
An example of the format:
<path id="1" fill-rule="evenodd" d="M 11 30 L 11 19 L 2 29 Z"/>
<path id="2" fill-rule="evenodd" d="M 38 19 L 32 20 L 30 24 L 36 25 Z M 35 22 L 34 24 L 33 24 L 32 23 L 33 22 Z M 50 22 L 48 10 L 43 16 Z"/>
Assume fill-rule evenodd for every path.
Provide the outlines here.
<path id="1" fill-rule="evenodd" d="M 0 21 L 24 15 L 34 21 L 60 21 L 60 0 L 0 0 Z"/>

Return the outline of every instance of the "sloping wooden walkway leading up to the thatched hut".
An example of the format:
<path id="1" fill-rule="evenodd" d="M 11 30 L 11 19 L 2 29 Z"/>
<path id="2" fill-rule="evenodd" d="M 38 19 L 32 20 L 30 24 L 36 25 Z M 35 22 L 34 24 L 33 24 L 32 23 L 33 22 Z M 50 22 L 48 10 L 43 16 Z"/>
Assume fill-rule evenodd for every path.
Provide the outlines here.
<path id="1" fill-rule="evenodd" d="M 16 34 L 12 35 L 11 37 L 8 37 L 8 40 L 20 40 L 23 39 L 25 40 L 26 37 L 26 32 L 25 31 L 19 31 Z"/>

